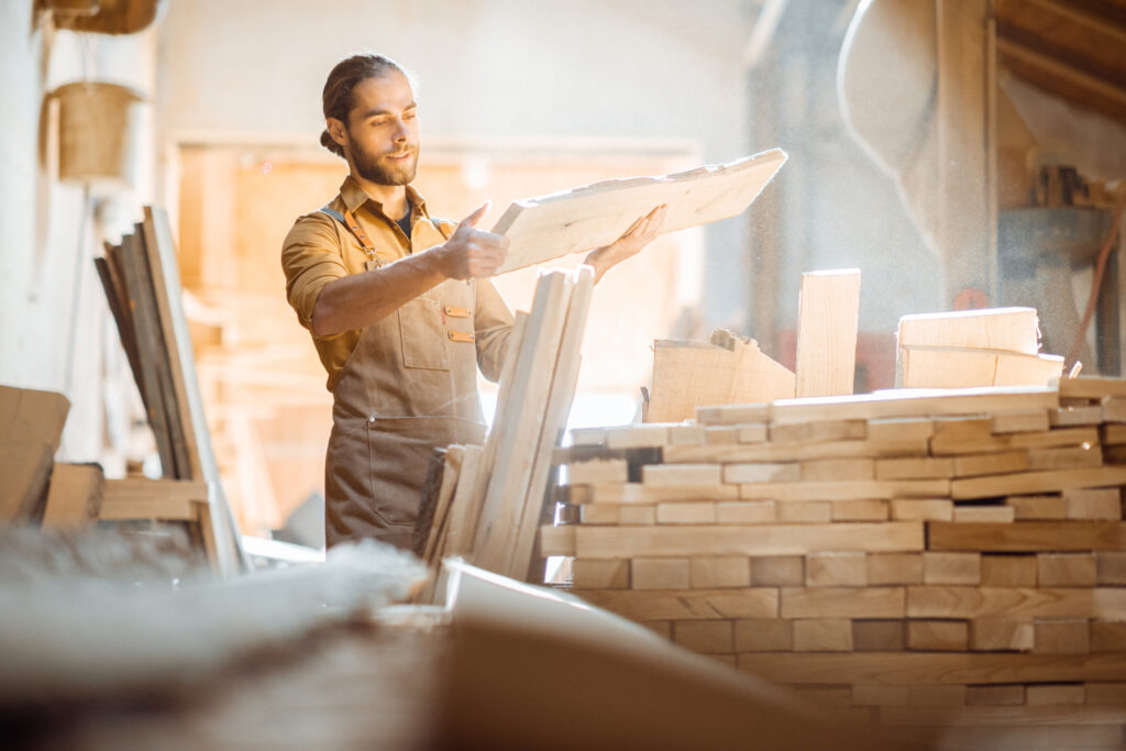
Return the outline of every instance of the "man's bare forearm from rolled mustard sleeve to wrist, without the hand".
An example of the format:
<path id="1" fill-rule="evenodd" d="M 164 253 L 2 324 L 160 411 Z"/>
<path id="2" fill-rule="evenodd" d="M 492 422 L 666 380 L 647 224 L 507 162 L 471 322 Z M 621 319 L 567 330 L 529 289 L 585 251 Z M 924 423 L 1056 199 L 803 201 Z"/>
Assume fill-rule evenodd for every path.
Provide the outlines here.
<path id="1" fill-rule="evenodd" d="M 420 252 L 324 285 L 313 307 L 313 332 L 331 337 L 391 315 L 446 280 L 437 253 Z"/>

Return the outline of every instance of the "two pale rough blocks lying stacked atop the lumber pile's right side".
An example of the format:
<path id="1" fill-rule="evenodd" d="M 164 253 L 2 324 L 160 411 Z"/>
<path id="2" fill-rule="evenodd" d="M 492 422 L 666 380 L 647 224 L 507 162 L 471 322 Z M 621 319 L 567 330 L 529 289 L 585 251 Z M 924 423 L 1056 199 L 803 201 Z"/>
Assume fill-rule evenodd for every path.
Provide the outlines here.
<path id="1" fill-rule="evenodd" d="M 899 385 L 965 388 L 1046 384 L 1063 357 L 1039 354 L 1036 309 L 920 313 L 900 319 Z"/>

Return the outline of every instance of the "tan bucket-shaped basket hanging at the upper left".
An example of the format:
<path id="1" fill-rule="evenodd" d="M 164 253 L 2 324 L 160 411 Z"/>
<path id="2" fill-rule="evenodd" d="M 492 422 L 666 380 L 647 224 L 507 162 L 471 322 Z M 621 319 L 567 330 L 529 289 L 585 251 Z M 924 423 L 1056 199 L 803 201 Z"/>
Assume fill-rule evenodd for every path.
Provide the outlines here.
<path id="1" fill-rule="evenodd" d="M 66 83 L 59 100 L 59 180 L 96 193 L 129 188 L 136 179 L 145 96 L 116 83 Z"/>

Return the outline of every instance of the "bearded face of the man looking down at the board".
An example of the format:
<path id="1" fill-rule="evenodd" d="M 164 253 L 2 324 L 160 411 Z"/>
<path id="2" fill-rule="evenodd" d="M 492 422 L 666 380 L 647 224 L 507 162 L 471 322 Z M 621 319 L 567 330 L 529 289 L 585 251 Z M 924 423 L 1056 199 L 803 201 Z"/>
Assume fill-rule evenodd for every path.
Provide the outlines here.
<path id="1" fill-rule="evenodd" d="M 419 124 L 410 81 L 396 70 L 352 89 L 346 132 L 359 177 L 376 185 L 408 185 L 419 161 Z"/>

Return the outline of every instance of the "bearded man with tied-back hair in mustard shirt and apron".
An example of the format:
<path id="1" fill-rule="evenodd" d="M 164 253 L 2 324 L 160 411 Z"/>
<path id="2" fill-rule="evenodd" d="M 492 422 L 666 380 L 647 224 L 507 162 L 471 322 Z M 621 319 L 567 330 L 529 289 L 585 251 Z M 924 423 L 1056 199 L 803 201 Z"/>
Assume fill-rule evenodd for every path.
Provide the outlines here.
<path id="1" fill-rule="evenodd" d="M 409 547 L 435 447 L 481 444 L 476 368 L 500 376 L 512 314 L 489 281 L 508 239 L 432 218 L 410 184 L 418 105 L 403 70 L 356 55 L 329 73 L 321 144 L 348 162 L 340 194 L 285 239 L 286 295 L 332 392 L 324 467 L 328 545 Z M 586 262 L 599 279 L 658 235 L 664 207 Z"/>

